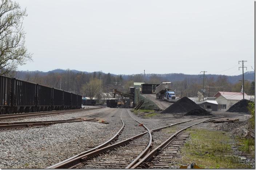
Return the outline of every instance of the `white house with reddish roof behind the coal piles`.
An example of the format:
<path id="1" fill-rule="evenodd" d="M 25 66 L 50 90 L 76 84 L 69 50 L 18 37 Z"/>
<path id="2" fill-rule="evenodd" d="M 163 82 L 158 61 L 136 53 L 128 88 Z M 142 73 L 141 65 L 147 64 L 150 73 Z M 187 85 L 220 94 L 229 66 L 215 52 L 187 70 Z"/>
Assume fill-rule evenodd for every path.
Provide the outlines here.
<path id="1" fill-rule="evenodd" d="M 218 103 L 218 111 L 227 111 L 232 105 L 243 99 L 241 92 L 218 92 L 214 95 Z M 254 96 L 249 96 L 244 93 L 244 99 L 253 100 Z"/>

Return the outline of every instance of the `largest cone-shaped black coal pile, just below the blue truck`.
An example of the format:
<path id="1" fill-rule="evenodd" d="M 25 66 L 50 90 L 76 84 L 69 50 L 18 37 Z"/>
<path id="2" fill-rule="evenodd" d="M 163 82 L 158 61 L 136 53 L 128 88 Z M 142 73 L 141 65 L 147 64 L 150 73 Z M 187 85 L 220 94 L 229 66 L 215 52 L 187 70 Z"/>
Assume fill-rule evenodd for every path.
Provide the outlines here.
<path id="1" fill-rule="evenodd" d="M 161 113 L 187 113 L 194 109 L 203 109 L 187 97 L 183 97 Z M 205 110 L 206 111 L 206 110 Z"/>

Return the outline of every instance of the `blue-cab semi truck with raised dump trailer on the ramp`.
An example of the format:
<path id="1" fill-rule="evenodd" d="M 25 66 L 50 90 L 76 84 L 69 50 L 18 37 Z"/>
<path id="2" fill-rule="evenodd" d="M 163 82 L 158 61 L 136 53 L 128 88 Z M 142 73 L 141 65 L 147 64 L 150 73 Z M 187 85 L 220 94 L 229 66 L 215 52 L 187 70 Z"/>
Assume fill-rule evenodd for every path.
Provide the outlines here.
<path id="1" fill-rule="evenodd" d="M 168 102 L 176 102 L 177 97 L 175 96 L 175 92 L 169 90 L 171 90 L 171 82 L 162 82 L 156 87 L 156 98 Z"/>

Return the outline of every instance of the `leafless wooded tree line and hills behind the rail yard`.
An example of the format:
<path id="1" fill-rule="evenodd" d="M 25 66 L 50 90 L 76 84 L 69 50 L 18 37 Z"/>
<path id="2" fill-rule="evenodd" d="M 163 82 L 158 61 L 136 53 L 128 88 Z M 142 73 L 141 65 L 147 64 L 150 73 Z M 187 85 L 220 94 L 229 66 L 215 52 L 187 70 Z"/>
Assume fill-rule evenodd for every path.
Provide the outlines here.
<path id="1" fill-rule="evenodd" d="M 113 92 L 113 89 L 129 93 L 129 86 L 133 86 L 133 82 L 144 82 L 143 74 L 123 76 L 103 72 L 74 72 L 72 70 L 48 72 L 45 74 L 41 74 L 40 72 L 16 72 L 15 77 L 72 93 L 82 94 L 87 97 L 97 97 L 96 94 Z M 161 82 L 172 82 L 172 90 L 179 97 L 197 96 L 198 92 L 203 92 L 203 88 L 205 97 L 213 97 L 219 91 L 241 92 L 242 89 L 242 83 L 240 81 L 231 83 L 228 77 L 224 75 L 219 75 L 216 78 L 205 78 L 204 87 L 203 77 L 199 78 L 199 76 L 197 78 L 190 78 L 188 76 L 181 81 L 172 81 L 166 77 L 153 74 L 147 76 L 147 81 L 145 81 L 148 84 L 160 84 Z M 248 95 L 254 95 L 255 82 L 245 81 L 244 91 Z"/>

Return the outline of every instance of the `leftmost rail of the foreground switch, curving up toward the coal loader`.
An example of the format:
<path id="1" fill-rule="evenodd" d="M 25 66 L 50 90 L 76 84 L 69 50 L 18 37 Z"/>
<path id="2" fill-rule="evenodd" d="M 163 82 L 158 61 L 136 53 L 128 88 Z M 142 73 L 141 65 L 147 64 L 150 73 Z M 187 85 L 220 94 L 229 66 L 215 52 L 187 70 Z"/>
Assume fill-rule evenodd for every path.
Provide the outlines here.
<path id="1" fill-rule="evenodd" d="M 78 160 L 79 160 L 81 157 L 84 157 L 84 155 L 90 154 L 90 153 L 92 153 L 93 151 L 96 151 L 96 150 L 99 151 L 100 149 L 102 149 L 104 147 L 107 147 L 111 142 L 113 142 L 120 135 L 120 133 L 123 131 L 123 129 L 125 127 L 124 121 L 122 119 L 122 114 L 123 114 L 123 110 L 122 110 L 121 116 L 120 116 L 120 119 L 121 119 L 121 122 L 122 122 L 123 126 L 119 129 L 119 131 L 117 131 L 117 133 L 111 139 L 109 139 L 108 141 L 104 142 L 103 144 L 101 144 L 99 146 L 96 146 L 96 147 L 94 147 L 94 148 L 92 148 L 90 150 L 87 150 L 85 152 L 77 154 L 77 155 L 75 155 L 75 156 L 73 156 L 71 158 L 68 158 L 68 159 L 66 159 L 64 161 L 56 163 L 55 165 L 49 166 L 49 167 L 47 167 L 47 169 L 69 168 L 68 167 L 68 163 L 71 162 L 72 160 L 75 160 L 75 161 L 72 162 L 72 164 L 77 163 L 76 158 L 78 158 Z"/>

